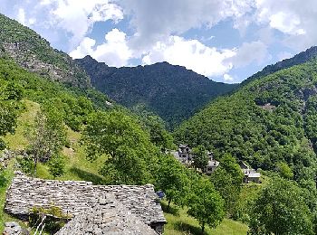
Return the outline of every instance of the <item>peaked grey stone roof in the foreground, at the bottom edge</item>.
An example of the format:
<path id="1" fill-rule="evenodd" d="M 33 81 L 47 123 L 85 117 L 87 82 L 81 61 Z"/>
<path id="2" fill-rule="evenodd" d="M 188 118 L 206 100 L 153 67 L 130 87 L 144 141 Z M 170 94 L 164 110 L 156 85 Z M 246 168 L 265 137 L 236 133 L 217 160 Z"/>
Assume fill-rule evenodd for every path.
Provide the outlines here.
<path id="1" fill-rule="evenodd" d="M 158 235 L 116 200 L 101 199 L 91 209 L 75 216 L 56 235 L 111 234 Z"/>

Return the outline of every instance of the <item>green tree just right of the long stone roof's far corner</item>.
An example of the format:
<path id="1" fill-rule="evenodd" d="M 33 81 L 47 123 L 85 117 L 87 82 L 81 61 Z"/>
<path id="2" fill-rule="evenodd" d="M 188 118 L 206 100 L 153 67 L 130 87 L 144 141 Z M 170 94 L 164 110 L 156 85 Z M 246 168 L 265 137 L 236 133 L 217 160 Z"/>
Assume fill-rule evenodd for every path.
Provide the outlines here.
<path id="1" fill-rule="evenodd" d="M 188 180 L 185 170 L 185 167 L 173 156 L 160 156 L 156 182 L 157 188 L 166 195 L 168 209 L 170 202 L 181 204 L 186 198 Z"/>

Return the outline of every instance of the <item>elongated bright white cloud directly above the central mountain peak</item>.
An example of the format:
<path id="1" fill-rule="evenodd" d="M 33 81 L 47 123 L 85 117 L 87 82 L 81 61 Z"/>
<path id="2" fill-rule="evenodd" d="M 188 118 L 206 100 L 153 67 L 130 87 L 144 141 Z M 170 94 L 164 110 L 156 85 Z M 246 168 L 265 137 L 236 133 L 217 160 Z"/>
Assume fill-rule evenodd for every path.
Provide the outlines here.
<path id="1" fill-rule="evenodd" d="M 171 64 L 185 66 L 207 77 L 223 75 L 232 68 L 232 63 L 225 62 L 233 57 L 231 50 L 217 50 L 207 47 L 197 40 L 185 40 L 179 36 L 170 36 L 166 42 L 157 42 L 142 58 L 143 64 L 168 61 Z"/>

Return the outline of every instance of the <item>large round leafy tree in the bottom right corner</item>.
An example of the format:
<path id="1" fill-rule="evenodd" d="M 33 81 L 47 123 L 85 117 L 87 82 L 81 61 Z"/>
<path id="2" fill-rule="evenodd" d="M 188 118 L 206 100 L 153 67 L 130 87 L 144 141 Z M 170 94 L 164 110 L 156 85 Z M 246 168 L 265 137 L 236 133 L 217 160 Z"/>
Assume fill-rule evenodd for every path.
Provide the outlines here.
<path id="1" fill-rule="evenodd" d="M 307 203 L 296 183 L 273 178 L 255 202 L 250 234 L 314 234 Z"/>

